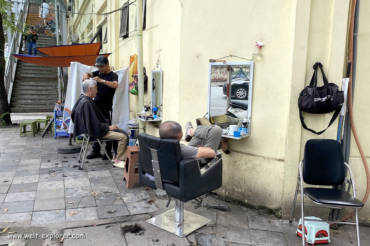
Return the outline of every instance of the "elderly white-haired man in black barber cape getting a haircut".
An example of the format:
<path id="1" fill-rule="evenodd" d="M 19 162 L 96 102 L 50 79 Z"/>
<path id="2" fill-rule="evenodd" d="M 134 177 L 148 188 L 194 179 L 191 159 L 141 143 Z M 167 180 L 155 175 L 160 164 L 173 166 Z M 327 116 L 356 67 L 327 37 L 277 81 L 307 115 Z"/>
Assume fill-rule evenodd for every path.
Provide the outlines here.
<path id="1" fill-rule="evenodd" d="M 117 125 L 109 125 L 97 108 L 94 98 L 98 92 L 96 81 L 85 80 L 82 84 L 84 94 L 81 94 L 71 112 L 74 123 L 73 136 L 88 134 L 93 138 L 113 139 L 113 151 L 116 156 L 114 165 L 124 168 L 128 135 Z M 114 158 L 113 158 L 114 159 Z"/>

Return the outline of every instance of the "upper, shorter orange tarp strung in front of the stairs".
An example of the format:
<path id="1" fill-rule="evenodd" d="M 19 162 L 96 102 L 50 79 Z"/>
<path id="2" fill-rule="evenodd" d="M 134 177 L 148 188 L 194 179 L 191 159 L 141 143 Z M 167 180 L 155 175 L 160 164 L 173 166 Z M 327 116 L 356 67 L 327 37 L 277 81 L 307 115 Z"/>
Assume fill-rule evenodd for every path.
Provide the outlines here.
<path id="1" fill-rule="evenodd" d="M 36 50 L 52 57 L 97 55 L 100 51 L 100 45 L 101 43 L 70 44 L 36 48 Z"/>

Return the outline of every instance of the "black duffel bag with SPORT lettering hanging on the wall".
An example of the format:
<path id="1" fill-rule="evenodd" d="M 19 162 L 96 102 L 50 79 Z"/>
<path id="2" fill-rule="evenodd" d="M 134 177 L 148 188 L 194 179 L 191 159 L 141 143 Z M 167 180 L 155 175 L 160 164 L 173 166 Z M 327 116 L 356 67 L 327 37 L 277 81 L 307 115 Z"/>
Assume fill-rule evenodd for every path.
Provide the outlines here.
<path id="1" fill-rule="evenodd" d="M 338 85 L 327 81 L 322 67 L 323 65 L 319 62 L 313 65 L 314 72 L 310 85 L 300 92 L 298 98 L 299 118 L 303 128 L 317 135 L 323 134 L 323 132 L 333 124 L 334 120 L 338 117 L 342 104 L 344 103 L 343 91 L 339 90 Z M 323 76 L 324 85 L 317 87 L 317 72 L 319 68 Z M 326 129 L 320 132 L 316 132 L 308 128 L 302 116 L 302 112 L 310 114 L 326 114 L 333 111 L 335 112 L 332 119 L 330 119 L 329 125 Z"/>

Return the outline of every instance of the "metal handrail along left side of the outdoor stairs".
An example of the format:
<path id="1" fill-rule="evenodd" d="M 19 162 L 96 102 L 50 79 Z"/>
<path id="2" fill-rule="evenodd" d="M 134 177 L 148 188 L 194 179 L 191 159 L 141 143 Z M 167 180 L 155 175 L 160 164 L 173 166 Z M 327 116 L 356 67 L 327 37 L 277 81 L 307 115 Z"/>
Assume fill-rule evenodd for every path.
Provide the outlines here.
<path id="1" fill-rule="evenodd" d="M 5 65 L 5 74 L 4 74 L 4 84 L 6 94 L 8 95 L 8 103 L 10 103 L 11 90 L 13 89 L 14 75 L 16 71 L 16 62 L 17 59 L 13 54 L 19 53 L 20 43 L 22 39 L 22 33 L 19 30 L 22 30 L 23 23 L 26 23 L 27 11 L 26 7 L 28 6 L 28 0 L 24 1 L 22 9 L 19 11 L 17 18 L 17 30 L 13 34 L 11 44 L 8 44 L 9 58 Z"/>

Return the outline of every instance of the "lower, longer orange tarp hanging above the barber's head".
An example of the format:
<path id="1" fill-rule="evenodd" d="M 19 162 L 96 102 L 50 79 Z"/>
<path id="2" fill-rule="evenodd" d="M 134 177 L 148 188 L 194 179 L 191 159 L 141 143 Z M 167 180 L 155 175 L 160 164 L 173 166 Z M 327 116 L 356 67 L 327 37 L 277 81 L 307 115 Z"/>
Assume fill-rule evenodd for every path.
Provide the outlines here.
<path id="1" fill-rule="evenodd" d="M 95 59 L 99 55 L 104 55 L 108 57 L 111 53 L 108 54 L 96 54 L 96 55 L 75 55 L 75 56 L 59 56 L 59 57 L 47 57 L 47 56 L 37 56 L 37 55 L 20 55 L 13 54 L 19 60 L 26 63 L 41 65 L 45 67 L 69 67 L 71 61 L 78 61 L 79 63 L 93 66 L 95 65 Z"/>

